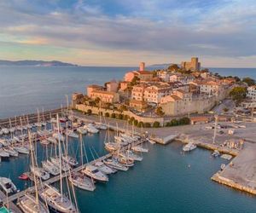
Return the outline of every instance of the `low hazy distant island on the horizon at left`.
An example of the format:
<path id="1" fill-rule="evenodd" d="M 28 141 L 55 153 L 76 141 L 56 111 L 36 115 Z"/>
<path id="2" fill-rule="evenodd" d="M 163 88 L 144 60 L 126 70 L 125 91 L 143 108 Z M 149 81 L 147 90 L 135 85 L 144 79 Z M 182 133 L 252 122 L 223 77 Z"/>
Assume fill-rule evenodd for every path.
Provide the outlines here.
<path id="1" fill-rule="evenodd" d="M 0 60 L 0 66 L 78 66 L 58 60 Z"/>

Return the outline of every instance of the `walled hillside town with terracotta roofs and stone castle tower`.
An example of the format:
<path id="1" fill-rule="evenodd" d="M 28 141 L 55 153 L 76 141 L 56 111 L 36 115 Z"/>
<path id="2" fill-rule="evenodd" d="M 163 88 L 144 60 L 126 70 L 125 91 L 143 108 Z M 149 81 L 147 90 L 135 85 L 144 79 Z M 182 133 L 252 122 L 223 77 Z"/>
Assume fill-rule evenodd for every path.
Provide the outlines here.
<path id="1" fill-rule="evenodd" d="M 201 69 L 197 57 L 180 66 L 172 64 L 154 71 L 148 71 L 145 62 L 141 62 L 137 70 L 126 72 L 120 81 L 89 85 L 85 95 L 74 93 L 73 108 L 110 118 L 132 118 L 136 124 L 141 123 L 139 126 L 164 126 L 170 118 L 211 113 L 230 95 L 237 81 L 237 77 L 221 77 Z M 241 83 L 241 87 L 246 88 L 247 84 Z M 248 91 L 256 99 L 255 87 Z M 194 119 L 207 122 L 203 117 Z"/>

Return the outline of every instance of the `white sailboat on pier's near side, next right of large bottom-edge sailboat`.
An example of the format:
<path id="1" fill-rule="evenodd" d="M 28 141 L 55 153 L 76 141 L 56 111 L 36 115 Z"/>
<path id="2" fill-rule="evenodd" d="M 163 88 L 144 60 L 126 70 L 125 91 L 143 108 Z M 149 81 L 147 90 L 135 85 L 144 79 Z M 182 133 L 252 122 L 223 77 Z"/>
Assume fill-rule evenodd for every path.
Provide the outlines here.
<path id="1" fill-rule="evenodd" d="M 90 192 L 96 189 L 94 181 L 91 180 L 91 178 L 88 176 L 84 176 L 80 172 L 71 173 L 71 176 L 68 177 L 68 180 L 73 184 L 73 186 Z"/>

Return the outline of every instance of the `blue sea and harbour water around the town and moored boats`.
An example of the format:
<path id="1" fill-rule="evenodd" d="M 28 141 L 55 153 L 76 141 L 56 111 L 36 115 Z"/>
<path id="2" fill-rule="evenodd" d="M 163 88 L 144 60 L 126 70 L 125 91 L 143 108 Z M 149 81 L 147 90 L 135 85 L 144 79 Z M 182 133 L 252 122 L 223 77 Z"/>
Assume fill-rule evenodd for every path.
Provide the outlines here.
<path id="1" fill-rule="evenodd" d="M 84 92 L 88 84 L 121 79 L 135 67 L 0 67 L 0 118 L 42 111 L 66 105 L 65 95 Z M 212 68 L 221 75 L 256 78 L 256 69 Z M 114 133 L 112 133 L 113 136 Z M 84 135 L 89 160 L 106 153 L 106 132 Z M 94 192 L 75 189 L 79 210 L 95 213 L 115 212 L 255 212 L 256 199 L 214 181 L 211 176 L 221 164 L 211 152 L 196 148 L 183 154 L 183 145 L 146 145 L 149 153 L 126 172 L 109 176 L 107 183 L 96 183 Z M 50 155 L 50 149 L 37 145 L 38 162 Z M 79 141 L 70 139 L 69 150 L 79 159 Z M 95 150 L 95 151 L 94 151 Z M 84 162 L 86 158 L 84 158 Z M 29 170 L 29 157 L 20 155 L 0 163 L 0 176 L 10 177 L 21 190 L 29 183 L 18 176 Z M 58 185 L 56 185 L 58 187 Z"/>

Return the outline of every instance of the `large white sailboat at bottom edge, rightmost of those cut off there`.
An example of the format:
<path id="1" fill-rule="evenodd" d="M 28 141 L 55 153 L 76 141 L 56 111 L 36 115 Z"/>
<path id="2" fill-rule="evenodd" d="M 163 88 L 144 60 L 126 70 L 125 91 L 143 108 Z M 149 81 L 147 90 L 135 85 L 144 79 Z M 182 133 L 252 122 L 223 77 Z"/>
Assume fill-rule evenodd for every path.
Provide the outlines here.
<path id="1" fill-rule="evenodd" d="M 77 213 L 74 204 L 70 199 L 61 194 L 55 187 L 44 184 L 44 187 L 39 191 L 39 196 L 48 204 L 51 210 L 55 212 Z"/>

